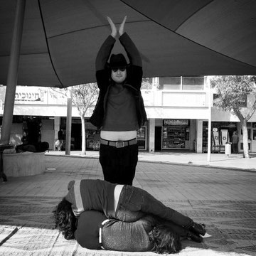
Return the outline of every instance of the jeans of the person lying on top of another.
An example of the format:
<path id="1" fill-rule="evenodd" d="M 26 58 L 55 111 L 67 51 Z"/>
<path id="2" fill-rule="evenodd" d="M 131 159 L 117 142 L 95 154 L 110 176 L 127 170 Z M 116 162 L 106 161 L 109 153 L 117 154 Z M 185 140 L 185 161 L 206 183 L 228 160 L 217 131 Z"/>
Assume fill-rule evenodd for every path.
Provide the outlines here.
<path id="1" fill-rule="evenodd" d="M 116 218 L 125 222 L 134 222 L 145 214 L 156 215 L 183 228 L 190 228 L 193 225 L 191 218 L 164 206 L 164 203 L 141 188 L 124 186 L 119 197 Z"/>

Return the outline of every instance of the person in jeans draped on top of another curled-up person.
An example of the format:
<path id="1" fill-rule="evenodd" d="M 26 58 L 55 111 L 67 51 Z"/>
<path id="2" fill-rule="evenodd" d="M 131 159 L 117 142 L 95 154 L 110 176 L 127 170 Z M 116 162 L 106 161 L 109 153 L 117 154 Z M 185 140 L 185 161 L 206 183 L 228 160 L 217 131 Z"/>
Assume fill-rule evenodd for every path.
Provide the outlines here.
<path id="1" fill-rule="evenodd" d="M 196 235 L 205 235 L 205 225 L 164 206 L 161 201 L 141 188 L 119 185 L 99 179 L 82 179 L 68 183 L 68 193 L 54 210 L 56 227 L 74 233 L 76 218 L 85 210 L 99 210 L 107 218 L 134 222 L 144 215 L 175 223 Z M 63 220 L 65 225 L 63 225 Z"/>

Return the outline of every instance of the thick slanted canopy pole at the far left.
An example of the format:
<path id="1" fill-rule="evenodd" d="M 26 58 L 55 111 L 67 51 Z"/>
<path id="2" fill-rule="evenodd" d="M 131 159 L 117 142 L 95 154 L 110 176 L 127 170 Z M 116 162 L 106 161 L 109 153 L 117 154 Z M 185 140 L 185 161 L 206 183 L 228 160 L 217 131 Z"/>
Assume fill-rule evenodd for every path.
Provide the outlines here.
<path id="1" fill-rule="evenodd" d="M 4 117 L 1 128 L 2 144 L 9 144 L 11 137 L 11 124 L 14 114 L 14 100 L 18 79 L 18 61 L 21 52 L 25 6 L 26 0 L 17 0 L 14 33 L 11 41 L 10 62 L 6 82 L 6 95 L 4 100 Z"/>

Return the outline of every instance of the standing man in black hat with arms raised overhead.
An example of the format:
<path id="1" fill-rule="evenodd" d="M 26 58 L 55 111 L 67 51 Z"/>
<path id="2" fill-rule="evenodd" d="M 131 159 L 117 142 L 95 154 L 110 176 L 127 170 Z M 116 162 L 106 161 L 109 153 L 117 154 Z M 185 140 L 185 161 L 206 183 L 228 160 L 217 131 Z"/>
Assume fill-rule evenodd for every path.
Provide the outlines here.
<path id="1" fill-rule="evenodd" d="M 132 185 L 138 161 L 137 130 L 146 121 L 142 85 L 142 59 L 124 33 L 126 16 L 117 31 L 110 17 L 112 33 L 96 58 L 96 79 L 100 89 L 90 122 L 100 129 L 100 164 L 105 181 Z M 110 53 L 119 36 L 128 58 Z M 107 60 L 110 57 L 110 63 Z"/>

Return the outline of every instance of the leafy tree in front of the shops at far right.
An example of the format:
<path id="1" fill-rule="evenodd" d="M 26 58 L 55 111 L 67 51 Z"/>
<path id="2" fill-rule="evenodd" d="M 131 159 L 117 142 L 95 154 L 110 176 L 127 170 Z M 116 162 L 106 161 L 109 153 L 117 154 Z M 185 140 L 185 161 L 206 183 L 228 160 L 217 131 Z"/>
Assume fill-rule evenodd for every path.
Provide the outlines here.
<path id="1" fill-rule="evenodd" d="M 240 120 L 245 158 L 250 157 L 247 122 L 256 110 L 255 82 L 256 76 L 252 75 L 222 75 L 210 79 L 210 86 L 217 89 L 215 106 L 232 112 Z"/>

